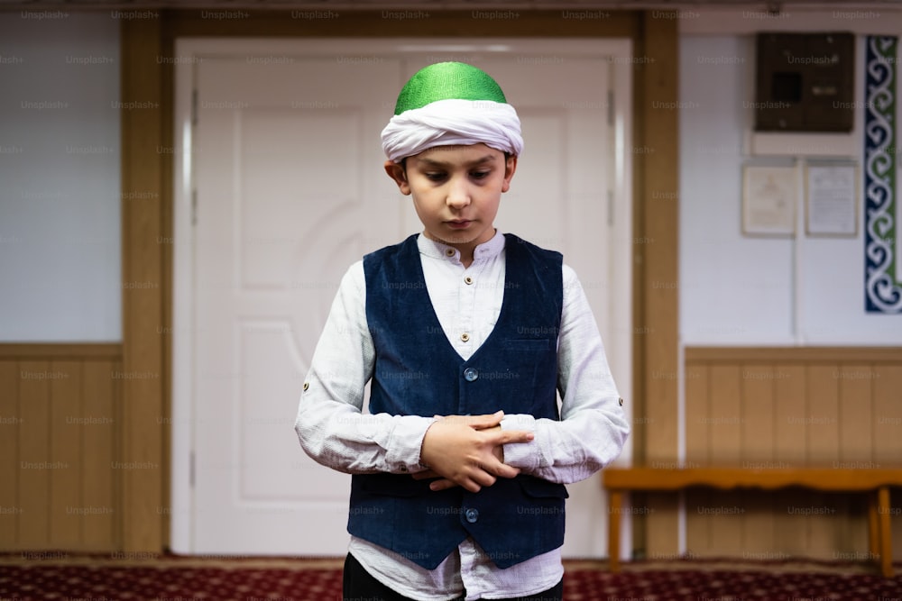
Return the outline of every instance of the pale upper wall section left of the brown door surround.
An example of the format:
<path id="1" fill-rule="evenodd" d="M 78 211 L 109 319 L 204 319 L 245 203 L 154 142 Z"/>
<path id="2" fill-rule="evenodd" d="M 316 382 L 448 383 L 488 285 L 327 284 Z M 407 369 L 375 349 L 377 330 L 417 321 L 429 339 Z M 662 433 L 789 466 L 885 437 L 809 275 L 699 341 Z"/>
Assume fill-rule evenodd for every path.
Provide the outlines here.
<path id="1" fill-rule="evenodd" d="M 119 21 L 0 13 L 0 341 L 122 338 Z"/>

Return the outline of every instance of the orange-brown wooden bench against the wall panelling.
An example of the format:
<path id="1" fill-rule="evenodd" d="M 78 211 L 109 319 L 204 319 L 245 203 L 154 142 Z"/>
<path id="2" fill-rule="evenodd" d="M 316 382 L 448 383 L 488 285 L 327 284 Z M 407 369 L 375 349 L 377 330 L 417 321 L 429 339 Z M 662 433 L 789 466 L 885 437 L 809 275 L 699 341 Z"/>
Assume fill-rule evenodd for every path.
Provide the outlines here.
<path id="1" fill-rule="evenodd" d="M 891 578 L 892 534 L 889 527 L 889 487 L 902 486 L 902 469 L 745 469 L 745 468 L 610 468 L 603 471 L 609 493 L 608 560 L 612 572 L 620 569 L 620 528 L 623 494 L 630 491 L 682 490 L 686 487 L 762 488 L 804 487 L 830 492 L 869 494 L 868 539 L 870 556 L 880 573 Z"/>

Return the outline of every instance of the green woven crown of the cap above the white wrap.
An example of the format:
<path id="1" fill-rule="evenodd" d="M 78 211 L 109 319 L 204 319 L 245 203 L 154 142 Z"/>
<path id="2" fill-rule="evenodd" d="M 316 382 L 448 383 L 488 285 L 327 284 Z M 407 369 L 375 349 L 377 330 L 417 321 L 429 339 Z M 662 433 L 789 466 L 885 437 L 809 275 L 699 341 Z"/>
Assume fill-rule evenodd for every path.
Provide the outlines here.
<path id="1" fill-rule="evenodd" d="M 507 103 L 498 82 L 483 69 L 463 62 L 438 62 L 419 69 L 404 84 L 395 114 L 450 99 Z"/>

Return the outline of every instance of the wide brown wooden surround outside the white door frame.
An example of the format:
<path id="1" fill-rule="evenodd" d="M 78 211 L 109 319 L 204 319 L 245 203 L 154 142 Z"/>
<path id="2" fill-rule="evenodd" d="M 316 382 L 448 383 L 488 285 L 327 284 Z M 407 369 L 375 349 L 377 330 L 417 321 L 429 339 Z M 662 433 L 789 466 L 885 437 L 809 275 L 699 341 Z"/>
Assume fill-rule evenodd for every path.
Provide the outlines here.
<path id="1" fill-rule="evenodd" d="M 411 11 L 409 11 L 411 12 Z M 667 11 L 429 10 L 159 11 L 121 23 L 123 549 L 169 543 L 172 332 L 172 154 L 175 40 L 179 37 L 628 38 L 633 67 L 633 461 L 676 460 L 678 263 L 678 26 Z M 227 13 L 211 18 L 211 13 Z M 412 12 L 411 12 L 412 13 Z M 486 11 L 485 13 L 492 13 Z M 639 150 L 637 150 L 639 149 Z M 666 200 L 661 200 L 665 198 Z M 654 243 L 640 243 L 654 241 Z M 137 284 L 140 283 L 141 286 Z M 655 378 L 653 374 L 674 374 Z M 148 377 L 139 378 L 141 374 Z M 657 505 L 656 505 L 657 506 Z M 661 505 L 656 524 L 676 523 Z M 673 528 L 667 528 L 667 532 Z M 669 535 L 666 545 L 671 545 Z M 676 544 L 676 538 L 673 538 Z"/>

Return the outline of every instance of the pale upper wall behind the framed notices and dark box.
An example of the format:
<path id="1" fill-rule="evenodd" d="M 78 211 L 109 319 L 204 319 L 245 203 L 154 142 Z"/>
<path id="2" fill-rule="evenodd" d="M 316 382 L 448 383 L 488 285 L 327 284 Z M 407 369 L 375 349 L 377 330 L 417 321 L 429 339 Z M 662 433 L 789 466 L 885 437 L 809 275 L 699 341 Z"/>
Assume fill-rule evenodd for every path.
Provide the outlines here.
<path id="1" fill-rule="evenodd" d="M 732 25 L 716 15 L 695 15 L 691 23 L 681 25 L 680 41 L 682 342 L 688 346 L 902 343 L 902 314 L 864 310 L 861 197 L 858 235 L 853 238 L 808 236 L 804 223 L 798 223 L 795 238 L 741 233 L 741 166 L 761 159 L 752 155 L 760 148 L 751 132 L 753 31 L 898 32 L 902 15 L 884 13 L 875 26 L 876 17 L 871 22 L 861 18 L 857 23 L 839 23 L 838 13 L 820 18 L 796 14 L 795 24 L 785 19 L 779 27 L 736 15 Z M 856 51 L 856 101 L 863 103 L 861 43 Z M 833 144 L 834 152 L 860 165 L 862 121 L 863 115 L 857 115 L 855 132 Z M 810 141 L 793 134 L 781 136 L 778 146 L 783 148 L 803 148 Z M 803 197 L 799 186 L 799 211 Z"/>

